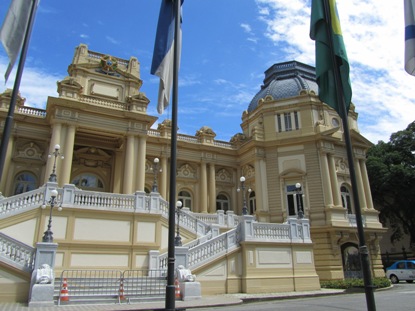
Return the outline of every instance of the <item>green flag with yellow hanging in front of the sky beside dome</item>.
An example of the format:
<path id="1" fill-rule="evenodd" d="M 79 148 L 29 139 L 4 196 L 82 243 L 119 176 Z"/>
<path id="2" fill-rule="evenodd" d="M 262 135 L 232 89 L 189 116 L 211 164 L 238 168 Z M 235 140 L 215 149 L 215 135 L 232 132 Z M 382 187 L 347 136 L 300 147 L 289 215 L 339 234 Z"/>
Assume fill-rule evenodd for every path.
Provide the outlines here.
<path id="1" fill-rule="evenodd" d="M 328 6 L 328 10 L 325 10 L 325 6 Z M 326 14 L 326 12 L 329 13 Z M 334 70 L 339 70 L 340 73 L 347 112 L 352 100 L 352 87 L 349 78 L 349 61 L 344 47 L 336 0 L 312 0 L 310 38 L 316 41 L 316 77 L 319 86 L 319 98 L 341 116 Z M 332 43 L 330 43 L 330 40 L 332 40 Z M 331 51 L 331 48 L 333 48 L 333 51 Z M 335 68 L 336 65 L 332 62 L 332 52 L 336 57 L 338 68 Z"/>

